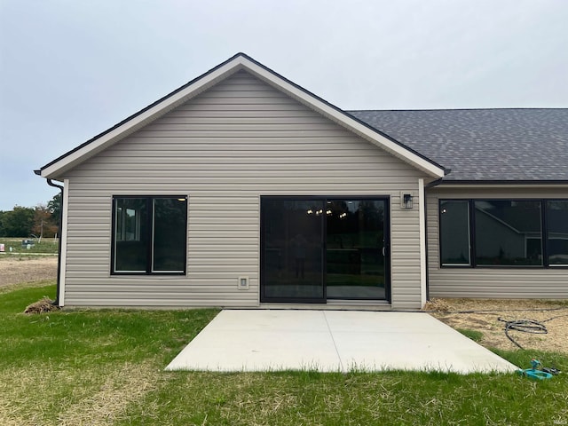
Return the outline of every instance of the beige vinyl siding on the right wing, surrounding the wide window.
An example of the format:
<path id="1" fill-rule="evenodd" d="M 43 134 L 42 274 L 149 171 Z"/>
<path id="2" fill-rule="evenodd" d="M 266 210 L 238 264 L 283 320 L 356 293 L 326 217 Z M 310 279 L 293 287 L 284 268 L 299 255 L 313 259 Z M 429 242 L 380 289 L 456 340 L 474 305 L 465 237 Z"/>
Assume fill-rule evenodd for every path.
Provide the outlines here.
<path id="1" fill-rule="evenodd" d="M 430 297 L 568 298 L 568 268 L 439 265 L 438 200 L 568 198 L 564 189 L 436 187 L 426 195 Z"/>

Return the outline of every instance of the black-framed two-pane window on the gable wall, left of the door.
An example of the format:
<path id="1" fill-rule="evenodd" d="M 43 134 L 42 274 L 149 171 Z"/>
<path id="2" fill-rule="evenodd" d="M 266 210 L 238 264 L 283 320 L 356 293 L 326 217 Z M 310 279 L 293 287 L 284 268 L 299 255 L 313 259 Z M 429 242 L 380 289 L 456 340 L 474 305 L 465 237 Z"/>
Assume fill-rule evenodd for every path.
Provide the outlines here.
<path id="1" fill-rule="evenodd" d="M 187 197 L 113 198 L 113 273 L 185 273 Z"/>

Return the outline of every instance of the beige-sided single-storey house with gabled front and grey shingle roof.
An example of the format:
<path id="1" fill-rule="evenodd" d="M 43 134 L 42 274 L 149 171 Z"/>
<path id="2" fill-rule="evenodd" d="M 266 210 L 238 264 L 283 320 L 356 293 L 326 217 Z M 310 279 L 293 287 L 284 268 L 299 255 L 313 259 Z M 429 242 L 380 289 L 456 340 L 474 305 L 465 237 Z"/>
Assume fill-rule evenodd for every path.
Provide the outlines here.
<path id="1" fill-rule="evenodd" d="M 568 297 L 568 109 L 343 111 L 239 53 L 36 173 L 59 305 Z"/>

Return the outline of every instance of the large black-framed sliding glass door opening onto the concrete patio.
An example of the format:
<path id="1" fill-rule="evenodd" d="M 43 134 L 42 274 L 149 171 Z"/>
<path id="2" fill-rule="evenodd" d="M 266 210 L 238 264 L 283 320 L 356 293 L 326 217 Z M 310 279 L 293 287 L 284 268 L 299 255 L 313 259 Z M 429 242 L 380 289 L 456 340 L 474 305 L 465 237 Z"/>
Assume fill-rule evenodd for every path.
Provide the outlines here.
<path id="1" fill-rule="evenodd" d="M 263 197 L 261 301 L 388 300 L 388 199 Z"/>

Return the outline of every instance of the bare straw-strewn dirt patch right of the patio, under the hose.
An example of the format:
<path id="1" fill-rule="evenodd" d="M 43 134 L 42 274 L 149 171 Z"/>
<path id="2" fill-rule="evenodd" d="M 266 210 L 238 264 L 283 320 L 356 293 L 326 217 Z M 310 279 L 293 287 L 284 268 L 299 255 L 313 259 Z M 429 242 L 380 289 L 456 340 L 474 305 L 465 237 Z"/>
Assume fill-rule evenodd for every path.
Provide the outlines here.
<path id="1" fill-rule="evenodd" d="M 479 342 L 502 350 L 518 349 L 505 335 L 505 322 L 533 319 L 542 323 L 548 334 L 509 330 L 509 335 L 524 349 L 557 351 L 568 354 L 568 303 L 565 301 L 515 299 L 434 299 L 426 311 L 453 328 L 466 328 L 483 333 Z"/>

